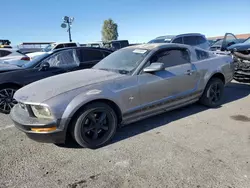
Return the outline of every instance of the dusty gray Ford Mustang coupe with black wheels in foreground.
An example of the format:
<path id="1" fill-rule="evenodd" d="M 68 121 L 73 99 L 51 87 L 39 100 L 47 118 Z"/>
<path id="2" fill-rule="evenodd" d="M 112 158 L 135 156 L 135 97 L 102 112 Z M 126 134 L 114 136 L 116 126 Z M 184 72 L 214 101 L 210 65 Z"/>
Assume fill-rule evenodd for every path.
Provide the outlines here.
<path id="1" fill-rule="evenodd" d="M 233 59 L 183 44 L 120 49 L 93 68 L 31 83 L 14 95 L 15 126 L 31 139 L 98 148 L 118 126 L 199 101 L 217 107 Z M 167 114 L 166 114 L 167 116 Z"/>

